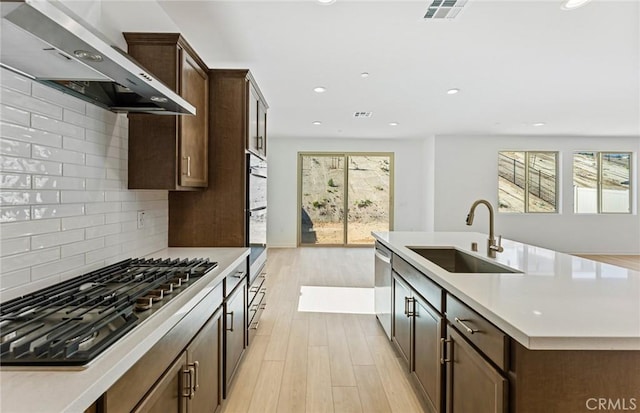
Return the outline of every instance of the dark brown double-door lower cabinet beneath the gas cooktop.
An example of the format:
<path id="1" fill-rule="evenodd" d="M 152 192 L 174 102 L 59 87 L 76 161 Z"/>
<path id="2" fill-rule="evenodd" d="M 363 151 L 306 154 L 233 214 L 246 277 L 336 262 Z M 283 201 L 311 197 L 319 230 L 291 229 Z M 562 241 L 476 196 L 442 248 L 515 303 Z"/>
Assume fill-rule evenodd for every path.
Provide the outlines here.
<path id="1" fill-rule="evenodd" d="M 220 406 L 220 319 L 217 311 L 133 410 L 214 413 Z"/>

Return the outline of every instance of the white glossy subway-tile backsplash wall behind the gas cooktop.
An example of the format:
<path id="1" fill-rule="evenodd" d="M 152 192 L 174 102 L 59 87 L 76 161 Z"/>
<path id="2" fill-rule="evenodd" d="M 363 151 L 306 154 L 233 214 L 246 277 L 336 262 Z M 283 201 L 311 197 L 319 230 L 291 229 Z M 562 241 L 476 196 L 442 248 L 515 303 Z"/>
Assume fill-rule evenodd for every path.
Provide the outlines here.
<path id="1" fill-rule="evenodd" d="M 168 191 L 127 190 L 126 115 L 0 83 L 1 299 L 167 246 Z"/>

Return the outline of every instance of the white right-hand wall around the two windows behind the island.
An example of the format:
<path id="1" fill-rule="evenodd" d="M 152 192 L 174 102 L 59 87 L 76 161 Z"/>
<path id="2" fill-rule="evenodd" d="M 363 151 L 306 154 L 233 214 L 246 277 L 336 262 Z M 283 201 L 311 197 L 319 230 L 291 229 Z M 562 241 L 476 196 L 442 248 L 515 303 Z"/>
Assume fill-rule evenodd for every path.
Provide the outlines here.
<path id="1" fill-rule="evenodd" d="M 488 232 L 486 209 L 479 207 L 472 228 L 465 217 L 474 200 L 484 198 L 497 206 L 497 159 L 501 150 L 560 152 L 560 213 L 496 214 L 496 233 L 533 245 L 570 253 L 640 253 L 637 215 L 637 156 L 640 138 L 615 137 L 487 137 L 435 138 L 435 229 Z M 573 213 L 572 156 L 575 151 L 632 151 L 634 213 L 588 215 Z"/>

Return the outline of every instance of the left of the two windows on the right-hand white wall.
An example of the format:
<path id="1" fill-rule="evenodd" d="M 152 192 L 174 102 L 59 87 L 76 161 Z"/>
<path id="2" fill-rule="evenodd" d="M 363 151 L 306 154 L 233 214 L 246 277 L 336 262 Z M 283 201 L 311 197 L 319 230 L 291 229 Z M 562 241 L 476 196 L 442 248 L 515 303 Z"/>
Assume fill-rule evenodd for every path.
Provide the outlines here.
<path id="1" fill-rule="evenodd" d="M 499 212 L 557 212 L 557 152 L 498 153 Z"/>

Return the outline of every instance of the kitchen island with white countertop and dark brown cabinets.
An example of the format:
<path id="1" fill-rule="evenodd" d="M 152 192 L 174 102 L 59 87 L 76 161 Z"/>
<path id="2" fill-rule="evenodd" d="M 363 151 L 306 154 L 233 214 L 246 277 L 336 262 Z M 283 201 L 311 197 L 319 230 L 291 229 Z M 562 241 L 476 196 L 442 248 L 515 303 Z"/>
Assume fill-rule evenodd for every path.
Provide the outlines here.
<path id="1" fill-rule="evenodd" d="M 639 272 L 510 240 L 489 258 L 480 233 L 373 235 L 393 252 L 392 340 L 431 409 L 467 411 L 462 406 L 487 395 L 487 412 L 640 408 Z M 416 247 L 450 247 L 512 272 L 449 272 Z M 407 318 L 413 321 L 405 328 Z M 431 319 L 433 334 L 421 333 Z M 441 346 L 428 342 L 438 339 Z M 433 380 L 420 372 L 422 353 L 432 347 L 424 365 L 441 369 Z"/>

